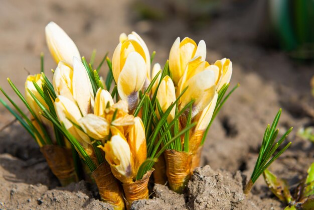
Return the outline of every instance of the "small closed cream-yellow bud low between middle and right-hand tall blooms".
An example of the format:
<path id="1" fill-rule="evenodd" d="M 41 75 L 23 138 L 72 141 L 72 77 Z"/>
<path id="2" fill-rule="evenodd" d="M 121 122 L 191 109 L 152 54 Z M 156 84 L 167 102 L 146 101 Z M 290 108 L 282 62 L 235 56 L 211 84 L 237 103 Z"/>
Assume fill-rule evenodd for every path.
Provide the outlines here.
<path id="1" fill-rule="evenodd" d="M 165 76 L 157 90 L 156 98 L 158 99 L 163 112 L 171 106 L 176 100 L 176 89 L 173 81 L 169 76 Z M 173 108 L 167 121 L 171 122 L 175 118 L 176 107 Z M 159 112 L 157 112 L 159 113 Z"/>

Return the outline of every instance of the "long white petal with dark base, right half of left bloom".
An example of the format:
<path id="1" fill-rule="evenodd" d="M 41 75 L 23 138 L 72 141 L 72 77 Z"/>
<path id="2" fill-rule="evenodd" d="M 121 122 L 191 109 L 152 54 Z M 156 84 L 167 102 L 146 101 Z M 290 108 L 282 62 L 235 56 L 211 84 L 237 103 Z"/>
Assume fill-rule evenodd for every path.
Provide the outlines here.
<path id="1" fill-rule="evenodd" d="M 89 76 L 83 63 L 73 58 L 73 97 L 76 100 L 83 116 L 90 113 L 94 104 L 94 93 Z"/>

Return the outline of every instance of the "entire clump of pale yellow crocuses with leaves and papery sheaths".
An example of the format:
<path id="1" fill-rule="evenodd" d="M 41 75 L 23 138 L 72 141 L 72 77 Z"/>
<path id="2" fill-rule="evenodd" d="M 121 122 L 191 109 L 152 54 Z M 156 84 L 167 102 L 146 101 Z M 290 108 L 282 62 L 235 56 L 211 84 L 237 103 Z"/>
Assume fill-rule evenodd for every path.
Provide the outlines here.
<path id="1" fill-rule="evenodd" d="M 24 98 L 9 81 L 31 119 L 15 103 L 23 119 L 0 102 L 36 139 L 59 180 L 77 181 L 74 172 L 81 172 L 73 152 L 83 163 L 85 178 L 97 184 L 101 200 L 115 209 L 147 199 L 154 170 L 156 183 L 167 175 L 170 187 L 182 192 L 230 81 L 231 61 L 210 65 L 203 40 L 196 45 L 190 38 L 178 38 L 164 70 L 158 63 L 151 70 L 145 42 L 135 32 L 122 33 L 112 63 L 103 59 L 109 67 L 103 82 L 98 75 L 103 61 L 93 70 L 93 61 L 80 56 L 57 24 L 49 23 L 45 31 L 57 64 L 52 82 L 44 72 L 29 76 Z"/>

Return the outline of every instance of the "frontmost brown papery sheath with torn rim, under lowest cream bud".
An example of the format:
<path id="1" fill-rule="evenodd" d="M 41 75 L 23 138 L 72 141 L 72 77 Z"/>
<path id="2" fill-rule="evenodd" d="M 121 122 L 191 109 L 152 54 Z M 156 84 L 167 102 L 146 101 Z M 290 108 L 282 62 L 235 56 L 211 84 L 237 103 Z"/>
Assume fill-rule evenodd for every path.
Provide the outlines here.
<path id="1" fill-rule="evenodd" d="M 148 199 L 148 181 L 153 170 L 147 171 L 142 179 L 133 183 L 123 183 L 126 207 L 129 209 L 135 200 Z"/>

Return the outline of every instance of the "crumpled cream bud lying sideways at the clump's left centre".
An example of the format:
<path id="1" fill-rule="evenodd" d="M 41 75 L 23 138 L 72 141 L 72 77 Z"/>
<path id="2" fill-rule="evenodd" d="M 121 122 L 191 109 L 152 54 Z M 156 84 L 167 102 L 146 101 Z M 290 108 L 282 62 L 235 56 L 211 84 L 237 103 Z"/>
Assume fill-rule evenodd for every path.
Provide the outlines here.
<path id="1" fill-rule="evenodd" d="M 88 114 L 78 121 L 83 131 L 93 139 L 103 139 L 109 135 L 108 121 L 102 117 Z"/>

